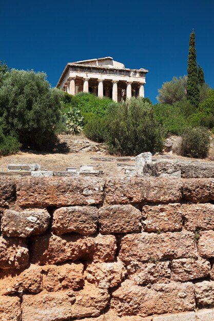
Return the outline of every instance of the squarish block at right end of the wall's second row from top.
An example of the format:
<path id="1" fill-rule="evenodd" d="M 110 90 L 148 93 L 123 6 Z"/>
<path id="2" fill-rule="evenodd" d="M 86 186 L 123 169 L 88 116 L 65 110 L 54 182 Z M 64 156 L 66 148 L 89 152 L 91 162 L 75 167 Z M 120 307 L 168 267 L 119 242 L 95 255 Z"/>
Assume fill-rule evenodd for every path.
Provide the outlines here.
<path id="1" fill-rule="evenodd" d="M 183 204 L 182 211 L 185 218 L 185 229 L 188 231 L 214 229 L 214 205 Z"/>

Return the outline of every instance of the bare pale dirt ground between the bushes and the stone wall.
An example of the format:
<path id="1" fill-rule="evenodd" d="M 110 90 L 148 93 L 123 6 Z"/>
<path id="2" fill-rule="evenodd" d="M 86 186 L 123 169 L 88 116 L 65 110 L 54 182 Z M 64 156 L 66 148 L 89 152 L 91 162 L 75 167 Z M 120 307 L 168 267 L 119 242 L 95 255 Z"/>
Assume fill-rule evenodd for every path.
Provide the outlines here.
<path id="1" fill-rule="evenodd" d="M 79 171 L 80 165 L 90 164 L 93 165 L 95 170 L 103 171 L 104 176 L 123 177 L 125 175 L 125 168 L 127 166 L 133 166 L 135 163 L 133 157 L 116 157 L 109 155 L 104 144 L 91 142 L 83 135 L 60 135 L 59 138 L 60 145 L 55 149 L 54 153 L 20 151 L 14 155 L 1 157 L 0 173 L 8 173 L 8 164 L 40 164 L 42 170 L 49 171 L 65 171 L 66 167 L 76 167 L 77 171 Z M 101 159 L 104 159 L 104 157 L 107 158 L 108 161 L 107 159 L 106 161 L 102 161 Z M 169 156 L 168 153 L 153 156 L 155 159 L 163 157 L 190 160 L 190 158 L 176 154 Z"/>

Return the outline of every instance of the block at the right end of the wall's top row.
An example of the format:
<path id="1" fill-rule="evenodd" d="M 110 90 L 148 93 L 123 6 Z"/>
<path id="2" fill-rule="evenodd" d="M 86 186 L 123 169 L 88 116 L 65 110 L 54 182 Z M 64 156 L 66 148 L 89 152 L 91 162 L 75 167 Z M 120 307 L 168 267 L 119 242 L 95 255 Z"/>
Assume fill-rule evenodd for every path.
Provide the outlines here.
<path id="1" fill-rule="evenodd" d="M 203 203 L 214 200 L 214 179 L 183 179 L 183 198 L 193 203 Z"/>

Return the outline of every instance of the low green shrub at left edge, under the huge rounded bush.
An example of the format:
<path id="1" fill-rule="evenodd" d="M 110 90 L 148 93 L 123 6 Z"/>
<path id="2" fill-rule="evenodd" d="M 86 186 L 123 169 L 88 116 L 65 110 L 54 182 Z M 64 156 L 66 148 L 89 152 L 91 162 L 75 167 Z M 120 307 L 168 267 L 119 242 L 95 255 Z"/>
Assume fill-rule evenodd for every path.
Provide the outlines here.
<path id="1" fill-rule="evenodd" d="M 5 136 L 0 128 L 0 155 L 6 156 L 17 152 L 21 144 L 15 137 Z"/>

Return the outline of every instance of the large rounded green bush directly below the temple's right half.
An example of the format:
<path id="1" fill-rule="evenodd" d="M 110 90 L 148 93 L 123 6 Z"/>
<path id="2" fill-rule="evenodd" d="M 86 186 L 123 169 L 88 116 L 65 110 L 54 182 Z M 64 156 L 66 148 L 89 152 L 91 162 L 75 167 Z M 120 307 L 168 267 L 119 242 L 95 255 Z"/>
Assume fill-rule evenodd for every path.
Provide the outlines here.
<path id="1" fill-rule="evenodd" d="M 163 148 L 159 126 L 151 104 L 142 97 L 111 105 L 106 115 L 105 141 L 110 153 L 138 155 Z"/>

